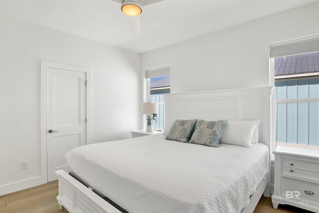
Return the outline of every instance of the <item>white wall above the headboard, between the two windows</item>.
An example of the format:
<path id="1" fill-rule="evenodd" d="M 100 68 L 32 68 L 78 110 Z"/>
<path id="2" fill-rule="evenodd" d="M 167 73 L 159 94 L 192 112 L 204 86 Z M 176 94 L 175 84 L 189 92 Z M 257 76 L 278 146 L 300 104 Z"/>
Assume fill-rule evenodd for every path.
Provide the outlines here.
<path id="1" fill-rule="evenodd" d="M 315 33 L 319 1 L 144 53 L 141 67 L 170 64 L 173 93 L 269 86 L 269 44 Z"/>

